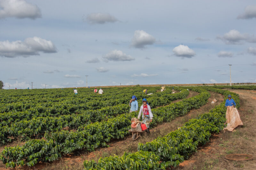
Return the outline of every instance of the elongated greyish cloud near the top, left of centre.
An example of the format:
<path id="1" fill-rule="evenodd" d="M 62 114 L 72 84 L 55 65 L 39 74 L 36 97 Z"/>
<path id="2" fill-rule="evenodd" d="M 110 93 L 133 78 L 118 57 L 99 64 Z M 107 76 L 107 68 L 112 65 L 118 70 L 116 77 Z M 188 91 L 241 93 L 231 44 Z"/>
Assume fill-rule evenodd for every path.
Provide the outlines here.
<path id="1" fill-rule="evenodd" d="M 117 19 L 108 13 L 91 13 L 88 14 L 86 20 L 90 24 L 105 24 L 106 22 L 116 22 Z"/>

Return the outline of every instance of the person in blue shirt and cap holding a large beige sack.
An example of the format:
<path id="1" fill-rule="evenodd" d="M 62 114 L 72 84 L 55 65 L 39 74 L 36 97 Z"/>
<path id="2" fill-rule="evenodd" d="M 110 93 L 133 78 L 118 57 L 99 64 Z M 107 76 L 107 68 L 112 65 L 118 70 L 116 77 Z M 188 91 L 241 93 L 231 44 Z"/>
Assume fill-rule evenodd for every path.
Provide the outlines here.
<path id="1" fill-rule="evenodd" d="M 225 122 L 225 124 L 227 123 L 227 127 L 224 128 L 224 131 L 233 131 L 237 126 L 243 125 L 243 122 L 241 121 L 239 113 L 236 109 L 236 102 L 233 99 L 231 99 L 231 95 L 228 95 L 228 99 L 226 100 L 225 106 L 227 107 L 227 121 Z"/>

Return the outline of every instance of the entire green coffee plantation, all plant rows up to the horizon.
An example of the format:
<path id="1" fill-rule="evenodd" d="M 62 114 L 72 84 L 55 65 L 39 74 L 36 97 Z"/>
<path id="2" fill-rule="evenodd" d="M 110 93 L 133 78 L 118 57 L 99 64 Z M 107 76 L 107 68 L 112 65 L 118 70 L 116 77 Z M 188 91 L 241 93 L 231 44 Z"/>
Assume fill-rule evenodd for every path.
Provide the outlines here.
<path id="1" fill-rule="evenodd" d="M 72 88 L 1 90 L 0 143 L 2 153 L 0 159 L 8 167 L 19 166 L 24 169 L 39 165 L 41 162 L 51 163 L 67 155 L 94 152 L 95 149 L 109 147 L 109 143 L 113 140 L 120 141 L 129 135 L 130 120 L 138 115 L 135 112 L 128 114 L 128 103 L 132 95 L 136 95 L 138 98 L 139 106 L 142 104 L 142 99 L 147 98 L 154 115 L 151 126 L 157 127 L 163 122 L 170 122 L 176 117 L 186 115 L 191 109 L 199 109 L 208 102 L 213 93 L 224 96 L 230 93 L 227 90 L 222 90 L 223 88 L 255 90 L 255 86 L 230 87 L 227 85 L 200 86 L 200 88 L 166 87 L 164 92 L 160 92 L 160 86 L 103 87 L 102 95 L 93 93 L 93 88 L 77 88 L 78 94 L 76 95 Z M 144 89 L 148 89 L 147 93 L 153 94 L 146 95 L 142 92 Z M 191 92 L 194 95 L 188 97 Z M 234 95 L 236 96 L 235 93 Z M 238 97 L 237 100 L 239 104 Z M 163 139 L 156 139 L 151 144 L 139 144 L 137 152 L 124 154 L 124 157 L 132 158 L 134 161 L 139 157 L 144 157 L 144 160 L 154 159 L 153 163 L 148 166 L 139 159 L 138 162 L 135 161 L 138 167 L 146 166 L 148 169 L 178 166 L 180 162 L 188 159 L 189 155 L 196 151 L 198 144 L 205 144 L 209 141 L 211 133 L 219 133 L 223 129 L 225 113 L 223 113 L 222 105 L 221 103 L 216 105 L 215 110 L 210 111 L 212 114 L 197 116 L 196 120 L 188 121 L 184 128 L 181 127 L 180 132 L 175 130 L 169 134 L 182 143 L 182 145 L 180 142 L 166 143 L 169 147 L 171 145 L 179 146 L 177 150 L 170 152 L 164 143 L 164 145 L 156 145 L 157 140 L 166 140 L 167 135 Z M 201 124 L 204 128 L 192 128 L 195 124 Z M 189 134 L 192 133 L 191 130 L 196 130 L 193 132 L 196 136 L 192 138 L 189 137 Z M 188 134 L 187 139 L 184 138 L 183 133 Z M 180 139 L 177 135 L 183 136 L 184 139 Z M 19 145 L 15 146 L 16 144 Z M 185 149 L 187 146 L 190 147 L 190 150 Z M 162 149 L 158 148 L 156 152 L 155 147 Z M 120 156 L 122 155 L 120 154 Z M 106 160 L 109 165 L 113 165 L 119 159 L 121 157 L 112 158 L 110 156 Z M 105 165 L 106 160 L 104 160 Z M 124 164 L 127 163 L 124 162 Z M 116 165 L 116 167 L 118 166 L 121 165 Z M 96 162 L 85 160 L 84 167 L 81 168 L 99 167 L 106 169 L 100 162 L 97 164 L 97 160 Z M 0 166 L 0 168 L 4 168 L 4 166 Z M 65 167 L 62 168 L 65 169 Z"/>

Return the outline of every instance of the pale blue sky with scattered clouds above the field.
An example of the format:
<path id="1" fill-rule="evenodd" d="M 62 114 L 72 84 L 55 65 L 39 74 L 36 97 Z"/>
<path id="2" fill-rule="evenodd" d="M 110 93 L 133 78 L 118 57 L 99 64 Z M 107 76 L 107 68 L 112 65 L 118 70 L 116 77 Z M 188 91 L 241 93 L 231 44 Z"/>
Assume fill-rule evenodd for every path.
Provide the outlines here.
<path id="1" fill-rule="evenodd" d="M 229 83 L 228 64 L 256 82 L 254 0 L 0 0 L 5 89 Z"/>

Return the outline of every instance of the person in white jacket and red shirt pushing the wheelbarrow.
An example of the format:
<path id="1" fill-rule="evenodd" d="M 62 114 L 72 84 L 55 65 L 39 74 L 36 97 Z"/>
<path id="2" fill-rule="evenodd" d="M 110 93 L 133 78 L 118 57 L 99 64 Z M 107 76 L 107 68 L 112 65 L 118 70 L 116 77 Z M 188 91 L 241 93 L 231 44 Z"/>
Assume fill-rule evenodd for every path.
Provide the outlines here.
<path id="1" fill-rule="evenodd" d="M 151 108 L 150 106 L 148 105 L 148 102 L 147 102 L 147 99 L 142 99 L 142 102 L 143 102 L 143 105 L 140 106 L 140 112 L 139 112 L 139 115 L 138 115 L 138 119 L 140 119 L 140 115 L 141 113 L 142 114 L 142 121 L 146 126 L 147 126 L 147 133 L 150 133 L 149 132 L 149 123 L 152 122 L 152 119 L 153 119 L 153 114 L 151 112 Z"/>

